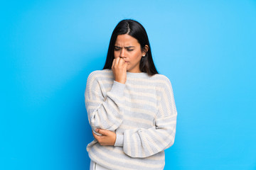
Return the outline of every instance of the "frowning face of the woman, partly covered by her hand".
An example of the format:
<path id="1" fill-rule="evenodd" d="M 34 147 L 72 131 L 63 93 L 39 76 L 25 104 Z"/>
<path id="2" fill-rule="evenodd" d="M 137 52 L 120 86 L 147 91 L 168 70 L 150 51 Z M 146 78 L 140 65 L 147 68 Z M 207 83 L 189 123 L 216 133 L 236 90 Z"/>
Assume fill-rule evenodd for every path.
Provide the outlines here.
<path id="1" fill-rule="evenodd" d="M 117 35 L 117 40 L 114 44 L 114 58 L 120 57 L 127 62 L 127 72 L 141 72 L 139 70 L 139 62 L 142 59 L 141 46 L 136 38 L 131 35 Z"/>

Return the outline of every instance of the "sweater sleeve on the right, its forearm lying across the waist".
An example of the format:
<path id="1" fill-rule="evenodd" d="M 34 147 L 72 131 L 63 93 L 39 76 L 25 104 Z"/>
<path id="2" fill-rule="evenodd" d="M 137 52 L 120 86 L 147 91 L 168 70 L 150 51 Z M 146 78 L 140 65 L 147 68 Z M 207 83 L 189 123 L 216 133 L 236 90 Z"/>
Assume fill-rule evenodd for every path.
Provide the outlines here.
<path id="1" fill-rule="evenodd" d="M 123 135 L 117 134 L 114 146 L 123 147 L 124 153 L 130 157 L 149 157 L 174 144 L 177 111 L 171 82 L 166 77 L 164 84 L 156 88 L 161 99 L 154 126 L 149 129 L 125 130 Z"/>

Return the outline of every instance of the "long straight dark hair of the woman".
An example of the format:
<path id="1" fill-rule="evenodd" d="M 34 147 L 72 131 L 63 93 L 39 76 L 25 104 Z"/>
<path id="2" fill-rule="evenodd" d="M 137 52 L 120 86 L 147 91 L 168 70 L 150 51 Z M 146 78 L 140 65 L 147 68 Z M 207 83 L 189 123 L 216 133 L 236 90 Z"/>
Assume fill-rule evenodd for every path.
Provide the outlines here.
<path id="1" fill-rule="evenodd" d="M 146 34 L 145 28 L 139 22 L 130 19 L 120 21 L 114 28 L 110 38 L 110 46 L 107 51 L 107 59 L 103 69 L 111 69 L 112 62 L 114 60 L 114 43 L 117 40 L 117 35 L 122 34 L 128 34 L 137 39 L 142 50 L 144 50 L 145 45 L 149 46 L 149 50 L 146 52 L 145 57 L 142 57 L 142 60 L 139 63 L 140 71 L 146 72 L 149 76 L 159 74 L 156 71 L 156 67 L 153 62 L 151 47 L 149 45 L 149 38 Z"/>

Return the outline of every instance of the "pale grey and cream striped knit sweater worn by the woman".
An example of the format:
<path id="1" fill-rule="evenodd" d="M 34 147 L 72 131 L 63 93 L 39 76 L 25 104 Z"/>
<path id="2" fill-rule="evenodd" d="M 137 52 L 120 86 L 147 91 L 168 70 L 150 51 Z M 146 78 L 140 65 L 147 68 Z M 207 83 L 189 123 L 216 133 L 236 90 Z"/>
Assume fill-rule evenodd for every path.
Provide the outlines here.
<path id="1" fill-rule="evenodd" d="M 174 144 L 177 116 L 167 77 L 127 72 L 121 84 L 111 69 L 97 70 L 87 78 L 85 107 L 94 132 L 117 134 L 114 146 L 97 140 L 87 145 L 92 161 L 113 170 L 164 169 L 164 149 Z"/>

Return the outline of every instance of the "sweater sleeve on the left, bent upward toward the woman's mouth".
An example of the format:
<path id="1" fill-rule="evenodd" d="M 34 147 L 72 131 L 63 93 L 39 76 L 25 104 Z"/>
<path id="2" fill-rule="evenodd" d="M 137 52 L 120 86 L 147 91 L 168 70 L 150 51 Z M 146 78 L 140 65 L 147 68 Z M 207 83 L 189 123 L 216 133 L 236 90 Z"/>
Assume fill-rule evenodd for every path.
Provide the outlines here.
<path id="1" fill-rule="evenodd" d="M 104 97 L 98 80 L 99 77 L 99 74 L 92 72 L 87 78 L 85 108 L 88 120 L 93 132 L 96 128 L 114 131 L 123 120 L 125 84 L 114 81 L 111 90 Z M 102 83 L 102 86 L 104 85 Z"/>

